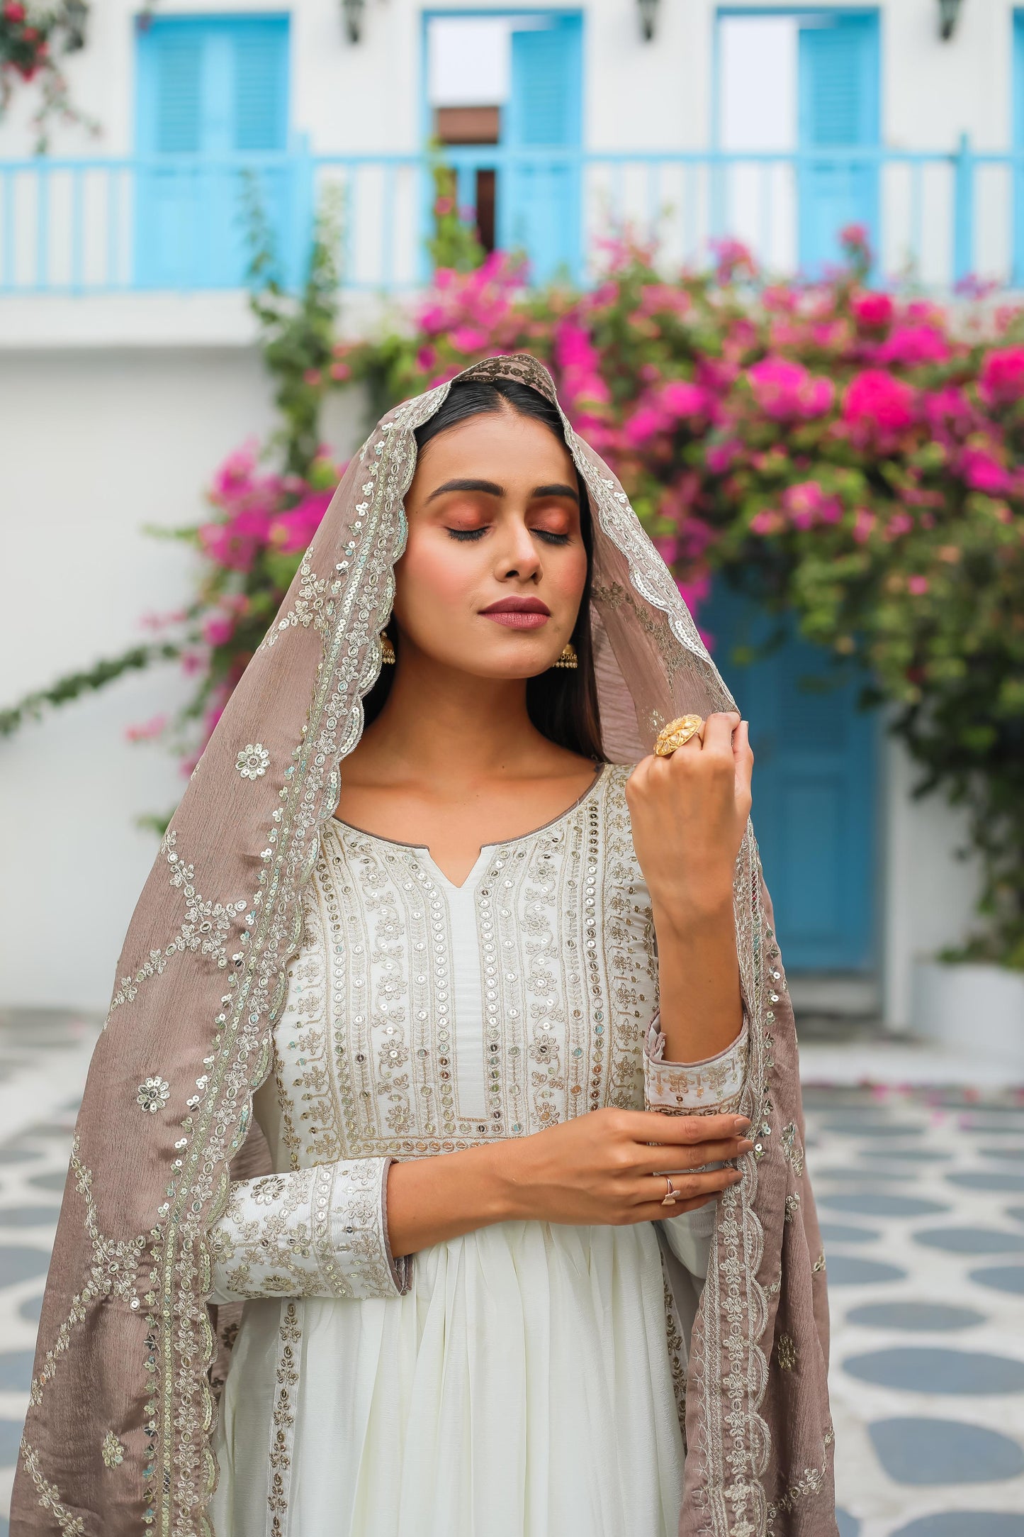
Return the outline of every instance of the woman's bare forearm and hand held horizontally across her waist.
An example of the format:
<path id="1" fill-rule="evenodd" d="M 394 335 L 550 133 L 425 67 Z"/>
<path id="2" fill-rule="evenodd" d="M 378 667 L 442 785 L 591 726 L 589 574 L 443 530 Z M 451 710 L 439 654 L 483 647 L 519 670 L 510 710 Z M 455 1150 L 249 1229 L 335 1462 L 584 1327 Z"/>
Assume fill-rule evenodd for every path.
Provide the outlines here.
<path id="1" fill-rule="evenodd" d="M 438 1157 L 391 1164 L 387 1227 L 393 1254 L 415 1254 L 494 1222 L 625 1227 L 703 1207 L 740 1174 L 745 1116 L 591 1110 L 547 1131 Z M 708 1165 L 725 1164 L 725 1168 Z M 679 1199 L 662 1205 L 671 1174 Z"/>

